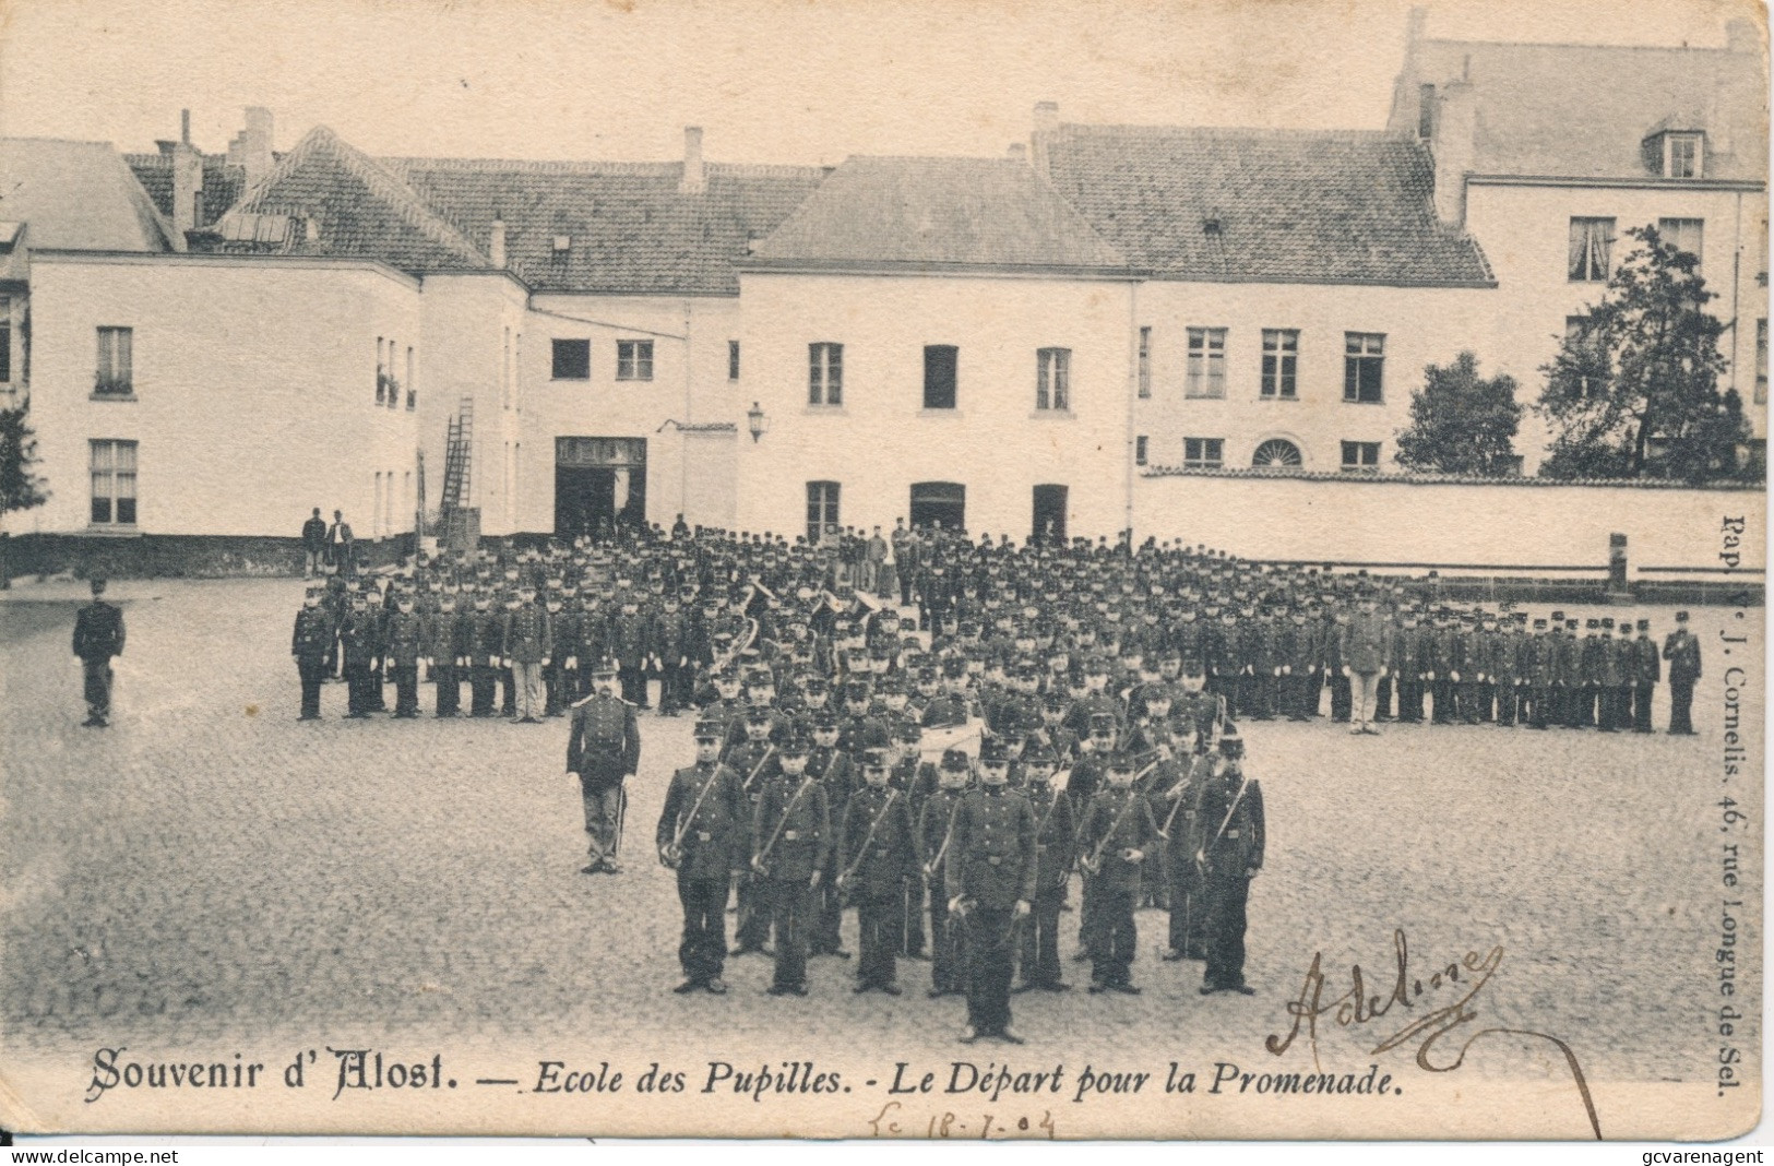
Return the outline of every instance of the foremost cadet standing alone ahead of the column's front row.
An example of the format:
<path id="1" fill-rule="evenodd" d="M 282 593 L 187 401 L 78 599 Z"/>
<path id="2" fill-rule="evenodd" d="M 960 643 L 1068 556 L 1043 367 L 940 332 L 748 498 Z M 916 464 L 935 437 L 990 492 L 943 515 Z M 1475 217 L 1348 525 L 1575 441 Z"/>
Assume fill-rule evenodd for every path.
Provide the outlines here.
<path id="1" fill-rule="evenodd" d="M 967 1029 L 1020 1045 L 1009 1031 L 1011 935 L 1029 914 L 1038 875 L 1036 820 L 1029 799 L 1008 786 L 1008 767 L 981 770 L 981 784 L 954 809 L 946 859 L 949 912 L 967 925 Z"/>

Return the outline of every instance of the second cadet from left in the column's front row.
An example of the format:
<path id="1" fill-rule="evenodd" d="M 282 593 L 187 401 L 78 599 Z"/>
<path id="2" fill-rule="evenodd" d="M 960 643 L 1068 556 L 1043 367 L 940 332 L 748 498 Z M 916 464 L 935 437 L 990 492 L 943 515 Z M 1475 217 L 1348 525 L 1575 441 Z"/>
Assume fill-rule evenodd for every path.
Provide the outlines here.
<path id="1" fill-rule="evenodd" d="M 761 884 L 775 928 L 770 996 L 807 994 L 812 891 L 820 886 L 830 845 L 825 786 L 807 772 L 807 742 L 791 737 L 752 816 L 752 877 Z"/>

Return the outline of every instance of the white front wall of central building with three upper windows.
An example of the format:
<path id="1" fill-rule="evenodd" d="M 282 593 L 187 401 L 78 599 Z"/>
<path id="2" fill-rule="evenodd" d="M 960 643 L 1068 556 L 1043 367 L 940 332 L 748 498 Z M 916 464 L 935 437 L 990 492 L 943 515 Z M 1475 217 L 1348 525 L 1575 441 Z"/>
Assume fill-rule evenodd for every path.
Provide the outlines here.
<path id="1" fill-rule="evenodd" d="M 809 481 L 843 486 L 844 525 L 892 529 L 910 486 L 967 486 L 972 532 L 1029 534 L 1032 488 L 1064 485 L 1075 534 L 1125 525 L 1130 284 L 992 277 L 745 273 L 736 522 L 805 532 Z M 844 344 L 841 408 L 807 403 L 807 346 Z M 954 344 L 954 410 L 922 410 L 924 346 Z M 1036 350 L 1071 350 L 1071 412 L 1038 414 Z"/>

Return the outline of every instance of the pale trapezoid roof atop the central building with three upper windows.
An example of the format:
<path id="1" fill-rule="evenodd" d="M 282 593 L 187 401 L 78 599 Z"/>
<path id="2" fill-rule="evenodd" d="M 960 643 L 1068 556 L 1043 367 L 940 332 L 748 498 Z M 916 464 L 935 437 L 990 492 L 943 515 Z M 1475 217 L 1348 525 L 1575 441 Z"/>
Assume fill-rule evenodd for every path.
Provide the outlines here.
<path id="1" fill-rule="evenodd" d="M 1125 270 L 1126 256 L 1027 163 L 850 158 L 775 234 L 757 266 Z"/>

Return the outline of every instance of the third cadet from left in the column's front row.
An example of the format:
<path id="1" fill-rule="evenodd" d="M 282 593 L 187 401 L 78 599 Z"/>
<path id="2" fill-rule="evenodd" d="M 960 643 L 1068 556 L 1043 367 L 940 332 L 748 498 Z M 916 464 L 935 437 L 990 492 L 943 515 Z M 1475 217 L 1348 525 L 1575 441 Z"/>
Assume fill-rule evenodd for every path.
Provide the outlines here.
<path id="1" fill-rule="evenodd" d="M 869 749 L 862 756 L 860 790 L 844 808 L 839 832 L 837 886 L 857 903 L 860 951 L 857 992 L 899 996 L 894 983 L 894 951 L 899 946 L 903 882 L 917 878 L 917 847 L 910 804 L 887 784 L 887 756 Z"/>

